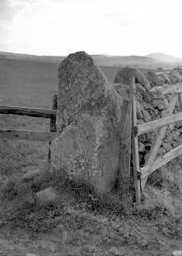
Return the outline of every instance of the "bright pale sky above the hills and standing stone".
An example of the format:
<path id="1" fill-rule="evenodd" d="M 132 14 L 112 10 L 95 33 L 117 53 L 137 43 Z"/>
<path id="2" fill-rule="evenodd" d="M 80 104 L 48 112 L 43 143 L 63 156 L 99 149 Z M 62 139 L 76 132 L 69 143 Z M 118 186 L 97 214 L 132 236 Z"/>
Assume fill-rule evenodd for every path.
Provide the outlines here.
<path id="1" fill-rule="evenodd" d="M 0 51 L 182 58 L 181 0 L 0 0 Z"/>

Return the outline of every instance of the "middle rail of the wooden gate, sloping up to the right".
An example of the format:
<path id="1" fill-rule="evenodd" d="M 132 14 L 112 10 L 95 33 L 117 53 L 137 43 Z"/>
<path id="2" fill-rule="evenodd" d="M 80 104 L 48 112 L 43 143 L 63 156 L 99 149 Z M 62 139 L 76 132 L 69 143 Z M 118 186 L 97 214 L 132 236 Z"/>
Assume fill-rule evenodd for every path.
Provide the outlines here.
<path id="1" fill-rule="evenodd" d="M 182 120 L 182 112 L 175 115 L 166 116 L 143 125 L 136 125 L 134 127 L 136 136 L 145 134 L 148 131 L 154 131 L 156 128 L 161 128 L 164 125 L 173 124 L 174 122 Z"/>

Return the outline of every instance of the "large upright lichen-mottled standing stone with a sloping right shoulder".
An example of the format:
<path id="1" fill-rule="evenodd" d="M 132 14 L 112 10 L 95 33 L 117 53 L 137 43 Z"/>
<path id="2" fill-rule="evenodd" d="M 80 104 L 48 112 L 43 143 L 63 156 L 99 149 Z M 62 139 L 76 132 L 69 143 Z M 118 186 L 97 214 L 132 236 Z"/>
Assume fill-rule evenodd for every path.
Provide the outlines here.
<path id="1" fill-rule="evenodd" d="M 106 193 L 117 181 L 122 98 L 85 52 L 65 58 L 58 77 L 50 170 Z"/>

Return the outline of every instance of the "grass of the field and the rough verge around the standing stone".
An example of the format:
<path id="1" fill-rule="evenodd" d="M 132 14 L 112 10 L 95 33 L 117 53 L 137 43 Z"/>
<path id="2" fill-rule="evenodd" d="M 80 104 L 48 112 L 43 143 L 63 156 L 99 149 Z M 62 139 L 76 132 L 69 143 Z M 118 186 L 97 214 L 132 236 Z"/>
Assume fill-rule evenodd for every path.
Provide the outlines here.
<path id="1" fill-rule="evenodd" d="M 53 94 L 58 87 L 57 64 L 21 60 L 7 60 L 1 64 L 2 105 L 51 109 Z M 113 73 L 111 70 L 112 76 Z M 49 131 L 49 120 L 0 115 L 0 128 Z M 31 232 L 45 232 L 63 225 L 68 230 L 90 234 L 92 240 L 96 237 L 95 244 L 114 241 L 148 248 L 156 243 L 163 246 L 165 238 L 182 238 L 180 159 L 178 167 L 172 162 L 168 169 L 164 167 L 164 170 L 152 174 L 148 190 L 143 195 L 144 202 L 136 207 L 132 203 L 126 205 L 116 191 L 98 196 L 91 187 L 74 183 L 65 175 L 62 177 L 57 173 L 53 177 L 44 165 L 48 147 L 49 144 L 43 142 L 1 141 L 0 177 L 9 179 L 0 192 L 0 226 L 8 224 L 28 228 Z M 43 167 L 40 176 L 20 183 L 24 173 L 40 166 Z M 36 193 L 47 186 L 56 188 L 59 199 L 42 205 Z M 72 243 L 79 239 L 89 242 L 87 235 L 72 235 Z"/>

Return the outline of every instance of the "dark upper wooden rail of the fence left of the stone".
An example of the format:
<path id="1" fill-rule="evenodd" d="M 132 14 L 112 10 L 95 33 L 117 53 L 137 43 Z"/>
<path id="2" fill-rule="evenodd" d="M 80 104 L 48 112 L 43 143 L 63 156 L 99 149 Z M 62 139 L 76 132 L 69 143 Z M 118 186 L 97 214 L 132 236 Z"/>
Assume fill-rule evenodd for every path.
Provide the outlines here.
<path id="1" fill-rule="evenodd" d="M 51 118 L 51 116 L 56 116 L 56 111 L 52 109 L 33 109 L 10 105 L 0 105 L 0 114 L 27 115 L 37 118 Z"/>

